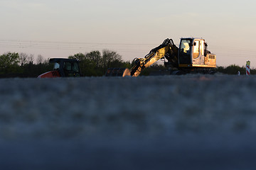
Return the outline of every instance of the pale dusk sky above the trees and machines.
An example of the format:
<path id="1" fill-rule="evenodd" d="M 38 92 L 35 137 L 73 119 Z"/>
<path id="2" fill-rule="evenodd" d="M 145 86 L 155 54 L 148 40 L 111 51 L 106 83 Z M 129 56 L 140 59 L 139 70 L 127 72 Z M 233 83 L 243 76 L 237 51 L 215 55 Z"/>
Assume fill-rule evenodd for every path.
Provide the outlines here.
<path id="1" fill-rule="evenodd" d="M 218 66 L 256 67 L 256 1 L 1 0 L 0 55 L 114 50 L 144 57 L 166 38 L 204 38 Z"/>

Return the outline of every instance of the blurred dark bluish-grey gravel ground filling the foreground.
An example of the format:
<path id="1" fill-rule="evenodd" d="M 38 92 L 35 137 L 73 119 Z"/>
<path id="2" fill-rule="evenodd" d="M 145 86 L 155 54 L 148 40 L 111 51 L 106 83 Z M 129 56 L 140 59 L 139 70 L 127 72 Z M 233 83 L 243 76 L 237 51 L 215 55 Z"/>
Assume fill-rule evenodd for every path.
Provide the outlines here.
<path id="1" fill-rule="evenodd" d="M 256 169 L 256 77 L 0 79 L 0 169 Z"/>

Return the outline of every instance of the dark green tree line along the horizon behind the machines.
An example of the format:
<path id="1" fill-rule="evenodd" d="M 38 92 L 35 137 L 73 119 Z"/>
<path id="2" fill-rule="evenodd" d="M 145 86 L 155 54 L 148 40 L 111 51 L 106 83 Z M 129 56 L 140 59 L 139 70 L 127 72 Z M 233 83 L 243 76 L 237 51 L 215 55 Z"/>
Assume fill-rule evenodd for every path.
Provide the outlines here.
<path id="1" fill-rule="evenodd" d="M 112 50 L 94 50 L 85 54 L 77 53 L 68 58 L 80 61 L 80 69 L 85 77 L 102 77 L 107 68 L 131 68 L 131 62 L 122 60 L 122 56 Z M 0 55 L 0 77 L 38 77 L 38 75 L 53 69 L 49 59 L 44 60 L 42 55 L 35 57 L 26 53 L 6 52 Z M 159 69 L 166 69 L 162 65 L 153 64 L 144 69 L 141 75 L 150 75 Z M 217 67 L 217 72 L 223 74 L 245 74 L 245 67 L 232 64 L 228 67 Z M 251 74 L 256 74 L 256 69 L 251 69 Z"/>

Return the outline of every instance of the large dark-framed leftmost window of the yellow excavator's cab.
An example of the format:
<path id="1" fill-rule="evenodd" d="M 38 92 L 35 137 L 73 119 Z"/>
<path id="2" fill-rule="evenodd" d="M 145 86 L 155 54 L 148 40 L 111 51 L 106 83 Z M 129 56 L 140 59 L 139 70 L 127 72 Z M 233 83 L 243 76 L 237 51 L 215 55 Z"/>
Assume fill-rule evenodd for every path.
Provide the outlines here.
<path id="1" fill-rule="evenodd" d="M 191 64 L 191 39 L 181 40 L 180 50 L 179 50 L 179 63 L 180 64 Z"/>

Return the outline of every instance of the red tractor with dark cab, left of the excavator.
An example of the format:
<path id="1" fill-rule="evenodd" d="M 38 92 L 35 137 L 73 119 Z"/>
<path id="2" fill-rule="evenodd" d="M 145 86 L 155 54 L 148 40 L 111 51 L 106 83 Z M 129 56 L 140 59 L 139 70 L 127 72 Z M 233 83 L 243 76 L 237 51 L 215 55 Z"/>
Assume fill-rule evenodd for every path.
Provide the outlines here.
<path id="1" fill-rule="evenodd" d="M 46 72 L 38 76 L 38 78 L 52 78 L 52 77 L 80 77 L 80 67 L 78 60 L 51 58 L 50 63 L 53 63 L 53 71 Z"/>

